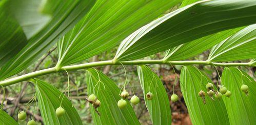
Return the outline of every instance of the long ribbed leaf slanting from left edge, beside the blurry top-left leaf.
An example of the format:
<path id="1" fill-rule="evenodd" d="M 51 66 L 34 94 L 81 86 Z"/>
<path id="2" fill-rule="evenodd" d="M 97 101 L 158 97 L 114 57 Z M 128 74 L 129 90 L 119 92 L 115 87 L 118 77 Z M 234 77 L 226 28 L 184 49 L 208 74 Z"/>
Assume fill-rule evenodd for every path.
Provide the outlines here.
<path id="1" fill-rule="evenodd" d="M 93 6 L 94 0 L 60 0 L 49 23 L 28 40 L 28 44 L 0 70 L 0 79 L 23 71 L 45 54 Z M 29 6 L 28 6 L 29 8 Z"/>

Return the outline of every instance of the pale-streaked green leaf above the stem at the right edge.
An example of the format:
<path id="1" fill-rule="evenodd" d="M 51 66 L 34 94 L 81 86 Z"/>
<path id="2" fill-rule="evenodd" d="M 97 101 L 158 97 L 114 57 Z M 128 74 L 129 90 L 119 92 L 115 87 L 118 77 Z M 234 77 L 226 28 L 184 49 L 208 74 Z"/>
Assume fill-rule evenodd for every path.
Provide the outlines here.
<path id="1" fill-rule="evenodd" d="M 256 25 L 250 25 L 214 46 L 208 61 L 232 61 L 256 57 Z"/>

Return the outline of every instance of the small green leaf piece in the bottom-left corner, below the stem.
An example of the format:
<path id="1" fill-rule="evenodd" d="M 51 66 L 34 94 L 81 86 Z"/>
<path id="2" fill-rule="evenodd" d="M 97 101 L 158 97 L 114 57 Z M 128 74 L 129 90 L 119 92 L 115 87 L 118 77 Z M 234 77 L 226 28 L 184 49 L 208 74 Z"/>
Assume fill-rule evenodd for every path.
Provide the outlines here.
<path id="1" fill-rule="evenodd" d="M 18 123 L 2 109 L 0 109 L 0 124 L 3 124 L 3 125 L 17 124 L 18 125 Z"/>

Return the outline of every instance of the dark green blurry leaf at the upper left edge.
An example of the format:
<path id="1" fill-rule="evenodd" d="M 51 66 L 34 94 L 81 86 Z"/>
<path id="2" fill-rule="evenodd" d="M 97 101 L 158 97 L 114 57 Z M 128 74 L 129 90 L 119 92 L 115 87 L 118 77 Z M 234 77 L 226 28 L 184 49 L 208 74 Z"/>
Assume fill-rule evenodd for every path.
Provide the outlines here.
<path id="1" fill-rule="evenodd" d="M 6 2 L 0 1 L 0 68 L 27 44 L 22 27 L 6 11 Z"/>

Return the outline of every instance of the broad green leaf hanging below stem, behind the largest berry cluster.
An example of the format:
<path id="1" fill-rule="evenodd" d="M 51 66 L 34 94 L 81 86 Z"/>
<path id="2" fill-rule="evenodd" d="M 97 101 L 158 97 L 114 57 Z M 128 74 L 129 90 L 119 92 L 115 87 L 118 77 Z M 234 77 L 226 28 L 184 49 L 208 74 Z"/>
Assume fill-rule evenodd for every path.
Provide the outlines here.
<path id="1" fill-rule="evenodd" d="M 204 75 L 205 77 L 201 76 Z M 227 111 L 222 99 L 211 100 L 206 95 L 206 104 L 198 93 L 207 92 L 207 81 L 212 82 L 206 74 L 194 66 L 184 66 L 181 71 L 181 91 L 193 124 L 229 124 Z M 202 80 L 202 82 L 201 82 Z M 216 87 L 214 87 L 216 90 Z M 223 97 L 224 98 L 224 97 Z"/>

